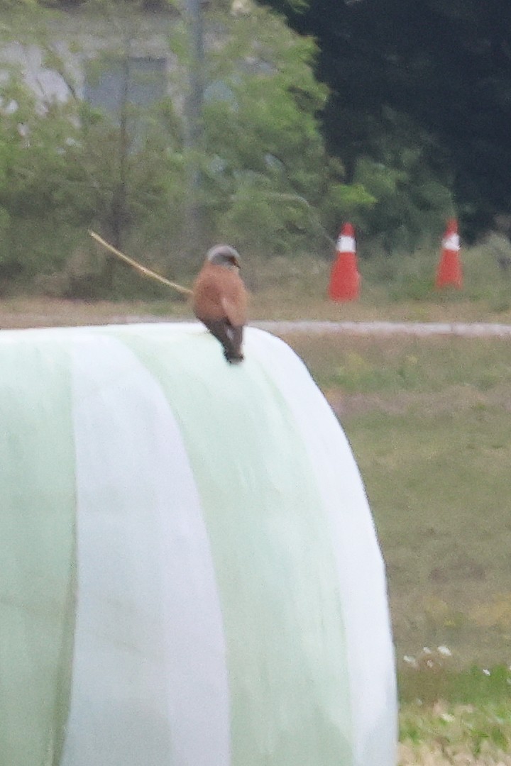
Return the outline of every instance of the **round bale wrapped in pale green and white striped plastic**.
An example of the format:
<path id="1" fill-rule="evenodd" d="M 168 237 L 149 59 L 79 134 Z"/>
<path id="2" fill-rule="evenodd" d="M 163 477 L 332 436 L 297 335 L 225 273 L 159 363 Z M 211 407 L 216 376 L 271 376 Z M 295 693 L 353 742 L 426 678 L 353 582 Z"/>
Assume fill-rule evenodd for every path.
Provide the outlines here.
<path id="1" fill-rule="evenodd" d="M 0 333 L 0 761 L 393 766 L 385 570 L 293 352 Z"/>

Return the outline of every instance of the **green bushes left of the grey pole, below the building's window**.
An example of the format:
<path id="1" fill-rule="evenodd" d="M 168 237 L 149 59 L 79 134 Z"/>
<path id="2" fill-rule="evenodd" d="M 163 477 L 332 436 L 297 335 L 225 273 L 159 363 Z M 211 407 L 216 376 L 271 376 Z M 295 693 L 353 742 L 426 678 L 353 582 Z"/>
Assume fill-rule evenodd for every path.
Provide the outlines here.
<path id="1" fill-rule="evenodd" d="M 142 121 L 126 104 L 120 129 L 73 98 L 38 102 L 15 70 L 0 100 L 4 273 L 31 278 L 63 269 L 90 226 L 110 237 L 137 228 L 147 241 L 155 228 L 160 238 L 179 230 L 185 170 L 171 103 Z"/>

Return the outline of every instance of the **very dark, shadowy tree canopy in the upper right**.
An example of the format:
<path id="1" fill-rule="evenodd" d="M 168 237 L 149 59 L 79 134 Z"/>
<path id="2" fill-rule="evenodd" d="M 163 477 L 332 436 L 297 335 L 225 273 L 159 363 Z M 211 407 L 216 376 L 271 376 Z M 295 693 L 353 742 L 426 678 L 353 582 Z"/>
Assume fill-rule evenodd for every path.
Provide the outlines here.
<path id="1" fill-rule="evenodd" d="M 511 206 L 511 4 L 501 0 L 310 0 L 285 13 L 316 36 L 319 77 L 332 89 L 330 145 L 355 172 L 375 138 L 391 136 L 385 107 L 436 142 L 431 163 L 452 185 L 467 231 Z M 387 138 L 385 138 L 385 141 Z"/>

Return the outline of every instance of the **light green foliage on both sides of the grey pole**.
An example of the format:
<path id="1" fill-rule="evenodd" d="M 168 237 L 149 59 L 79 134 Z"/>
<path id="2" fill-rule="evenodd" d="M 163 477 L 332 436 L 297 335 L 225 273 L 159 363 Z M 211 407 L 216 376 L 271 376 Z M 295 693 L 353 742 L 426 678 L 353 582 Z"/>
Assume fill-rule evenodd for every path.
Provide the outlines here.
<path id="1" fill-rule="evenodd" d="M 136 18 L 117 18 L 113 6 L 103 11 L 121 49 L 97 59 L 98 77 L 111 68 L 112 55 L 123 61 L 137 34 Z M 192 67 L 187 23 L 186 17 L 176 20 L 169 41 L 179 59 L 172 71 L 178 104 L 188 93 Z M 68 230 L 74 228 L 78 240 L 80 229 L 97 228 L 135 256 L 149 245 L 160 268 L 179 270 L 182 262 L 171 262 L 169 250 L 189 247 L 191 211 L 204 218 L 204 245 L 228 239 L 268 256 L 329 254 L 340 219 L 375 204 L 361 182 L 346 184 L 342 163 L 326 151 L 319 114 L 328 91 L 313 74 L 313 41 L 250 4 L 238 15 L 215 4 L 208 24 L 215 41 L 201 72 L 205 101 L 194 125 L 168 97 L 142 108 L 126 90 L 112 115 L 80 102 L 69 61 L 43 25 L 45 64 L 61 75 L 69 99 L 38 103 L 15 73 L 4 83 L 5 103 L 15 104 L 2 126 L 8 183 L 2 183 L 0 166 L 0 208 L 11 242 L 26 244 L 16 234 L 21 221 L 44 218 L 53 221 L 56 239 L 61 228 L 67 242 Z M 11 245 L 9 252 L 15 250 L 16 258 L 27 260 Z M 61 247 L 51 250 L 40 260 L 43 271 L 62 265 Z M 112 288 L 108 270 L 105 285 Z"/>

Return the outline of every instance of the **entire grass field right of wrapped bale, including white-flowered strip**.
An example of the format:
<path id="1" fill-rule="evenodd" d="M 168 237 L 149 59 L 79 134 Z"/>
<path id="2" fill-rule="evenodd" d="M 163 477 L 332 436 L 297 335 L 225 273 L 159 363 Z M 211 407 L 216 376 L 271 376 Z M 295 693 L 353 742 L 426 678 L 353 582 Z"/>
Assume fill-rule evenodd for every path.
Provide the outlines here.
<path id="1" fill-rule="evenodd" d="M 395 633 L 399 763 L 509 766 L 509 340 L 287 341 L 338 414 L 375 517 Z"/>

